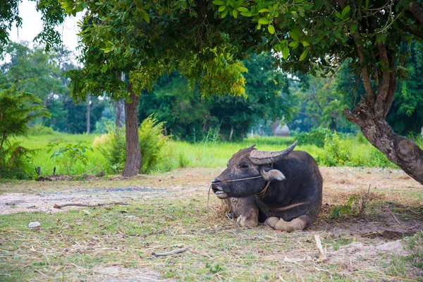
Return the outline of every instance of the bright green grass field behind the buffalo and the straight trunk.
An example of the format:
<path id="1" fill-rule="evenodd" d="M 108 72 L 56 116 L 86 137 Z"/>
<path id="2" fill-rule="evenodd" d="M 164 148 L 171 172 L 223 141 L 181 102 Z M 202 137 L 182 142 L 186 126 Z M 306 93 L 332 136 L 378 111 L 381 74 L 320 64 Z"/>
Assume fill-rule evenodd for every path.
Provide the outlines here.
<path id="1" fill-rule="evenodd" d="M 63 140 L 65 143 L 77 144 L 78 142 L 87 142 L 87 145 L 93 147 L 94 152 L 87 151 L 87 164 L 75 161 L 71 166 L 71 174 L 78 175 L 90 171 L 98 165 L 92 174 L 103 171 L 106 174 L 116 174 L 114 168 L 107 164 L 106 158 L 100 152 L 99 145 L 95 140 L 100 138 L 99 135 L 70 135 L 65 133 L 55 133 L 54 135 L 29 135 L 27 137 L 18 137 L 17 141 L 23 147 L 28 149 L 36 149 L 32 159 L 34 168 L 40 166 L 43 175 L 50 175 L 56 166 L 56 173 L 67 174 L 66 167 L 61 164 L 59 159 L 51 158 L 54 153 L 47 152 L 47 144 Z M 226 166 L 226 162 L 239 149 L 256 145 L 257 149 L 264 151 L 276 151 L 285 149 L 295 141 L 294 137 L 247 137 L 243 142 L 210 142 L 202 141 L 195 144 L 171 140 L 164 147 L 158 164 L 155 166 L 153 173 L 163 173 L 176 168 L 184 167 L 204 167 L 216 168 Z M 367 164 L 366 160 L 372 154 L 374 148 L 368 142 L 358 142 L 357 138 L 350 137 L 342 141 L 345 147 L 348 147 L 350 155 L 358 160 L 361 166 L 378 166 Z M 312 154 L 314 158 L 324 155 L 325 149 L 315 145 L 298 144 L 296 150 L 304 150 Z"/>

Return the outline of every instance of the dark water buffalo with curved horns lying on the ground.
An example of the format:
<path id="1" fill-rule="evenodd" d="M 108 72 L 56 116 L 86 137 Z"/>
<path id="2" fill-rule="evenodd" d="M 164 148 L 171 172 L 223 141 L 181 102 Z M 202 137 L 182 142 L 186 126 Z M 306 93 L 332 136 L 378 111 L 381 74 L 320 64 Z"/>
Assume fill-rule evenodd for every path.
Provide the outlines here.
<path id="1" fill-rule="evenodd" d="M 228 168 L 212 180 L 217 197 L 228 200 L 240 226 L 265 222 L 275 230 L 302 230 L 316 220 L 323 180 L 307 152 L 293 145 L 263 152 L 255 145 L 234 154 Z"/>

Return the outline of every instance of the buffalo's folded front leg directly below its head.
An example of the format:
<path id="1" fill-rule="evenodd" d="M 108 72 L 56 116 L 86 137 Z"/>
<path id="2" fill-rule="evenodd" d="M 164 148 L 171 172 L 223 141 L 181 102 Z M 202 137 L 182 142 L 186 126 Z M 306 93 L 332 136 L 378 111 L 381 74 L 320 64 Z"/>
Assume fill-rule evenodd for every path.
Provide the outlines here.
<path id="1" fill-rule="evenodd" d="M 259 224 L 259 208 L 254 197 L 231 198 L 233 217 L 241 227 L 256 227 Z"/>

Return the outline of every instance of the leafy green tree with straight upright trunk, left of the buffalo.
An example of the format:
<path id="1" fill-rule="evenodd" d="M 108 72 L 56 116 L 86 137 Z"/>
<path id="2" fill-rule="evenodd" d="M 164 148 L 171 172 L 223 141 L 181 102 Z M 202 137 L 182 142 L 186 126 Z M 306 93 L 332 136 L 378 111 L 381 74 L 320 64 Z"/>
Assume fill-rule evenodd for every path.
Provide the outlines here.
<path id="1" fill-rule="evenodd" d="M 245 25 L 221 20 L 207 1 L 63 1 L 62 6 L 68 13 L 87 9 L 81 32 L 85 68 L 70 74 L 72 94 L 85 98 L 106 92 L 115 100 L 125 98 L 123 176 L 140 170 L 136 109 L 142 90 L 177 70 L 203 95 L 244 94 L 245 68 L 236 59 L 262 41 L 248 33 L 249 20 Z M 125 82 L 118 82 L 121 73 Z"/>

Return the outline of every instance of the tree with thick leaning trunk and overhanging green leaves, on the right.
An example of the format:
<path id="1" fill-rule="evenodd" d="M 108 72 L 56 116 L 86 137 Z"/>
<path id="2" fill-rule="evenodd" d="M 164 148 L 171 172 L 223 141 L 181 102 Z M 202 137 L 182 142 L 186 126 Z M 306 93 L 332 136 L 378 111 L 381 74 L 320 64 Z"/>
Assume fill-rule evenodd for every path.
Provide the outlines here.
<path id="1" fill-rule="evenodd" d="M 360 102 L 344 114 L 393 163 L 423 183 L 423 151 L 396 135 L 386 122 L 400 71 L 400 46 L 423 38 L 419 1 L 248 1 L 240 6 L 215 0 L 221 17 L 238 11 L 267 32 L 269 45 L 281 51 L 281 66 L 291 71 L 326 73 L 345 61 L 362 78 Z M 228 5 L 230 4 L 230 5 Z M 234 12 L 236 10 L 236 12 Z M 234 15 L 235 13 L 235 15 Z M 266 27 L 264 30 L 263 27 Z"/>

